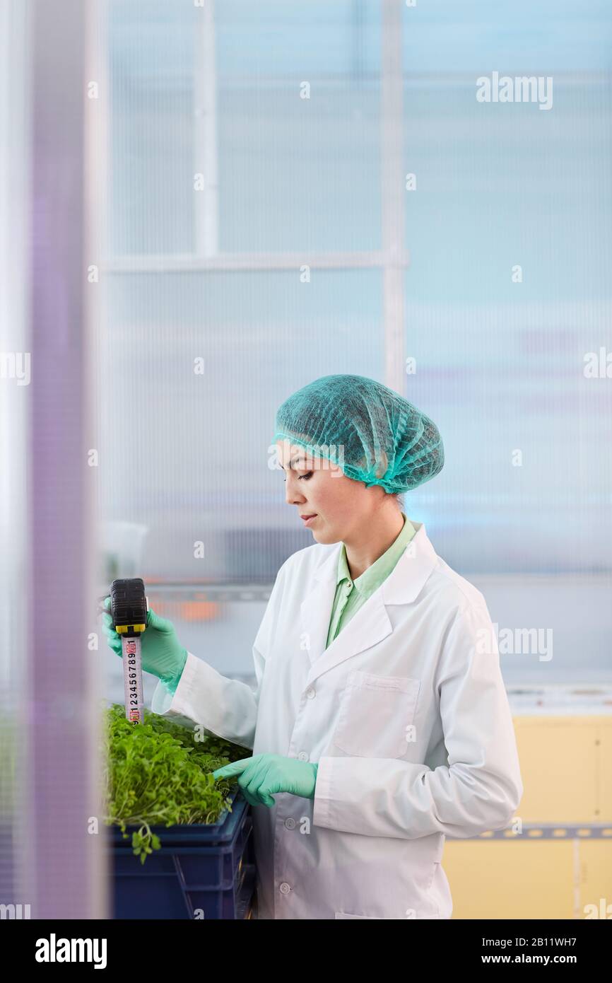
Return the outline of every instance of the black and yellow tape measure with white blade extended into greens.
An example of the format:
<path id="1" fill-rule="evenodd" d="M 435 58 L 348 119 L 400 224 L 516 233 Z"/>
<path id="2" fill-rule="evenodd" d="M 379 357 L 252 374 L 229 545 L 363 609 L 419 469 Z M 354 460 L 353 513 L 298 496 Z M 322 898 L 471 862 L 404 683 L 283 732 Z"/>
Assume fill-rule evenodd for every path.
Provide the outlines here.
<path id="1" fill-rule="evenodd" d="M 140 635 L 146 628 L 148 611 L 144 581 L 139 577 L 113 580 L 110 599 L 113 626 L 117 634 L 121 635 L 126 718 L 132 723 L 144 723 L 140 652 Z"/>

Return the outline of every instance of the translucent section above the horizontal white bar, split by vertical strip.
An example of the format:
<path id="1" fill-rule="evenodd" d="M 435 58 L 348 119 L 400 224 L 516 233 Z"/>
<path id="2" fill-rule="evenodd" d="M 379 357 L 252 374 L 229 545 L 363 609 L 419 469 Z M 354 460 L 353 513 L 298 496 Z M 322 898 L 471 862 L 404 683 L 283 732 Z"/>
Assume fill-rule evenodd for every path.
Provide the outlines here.
<path id="1" fill-rule="evenodd" d="M 210 211 L 223 252 L 380 248 L 377 2 L 109 0 L 108 38 L 114 256 Z"/>

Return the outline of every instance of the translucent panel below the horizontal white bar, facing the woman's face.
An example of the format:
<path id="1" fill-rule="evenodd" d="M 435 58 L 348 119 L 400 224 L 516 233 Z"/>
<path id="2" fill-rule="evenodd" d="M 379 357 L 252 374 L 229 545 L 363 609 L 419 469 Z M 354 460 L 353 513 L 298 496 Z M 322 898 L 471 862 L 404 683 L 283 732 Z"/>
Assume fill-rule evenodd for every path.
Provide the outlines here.
<path id="1" fill-rule="evenodd" d="M 101 575 L 273 580 L 311 539 L 272 470 L 276 407 L 348 358 L 380 375 L 381 331 L 378 270 L 116 275 L 97 356 Z"/>

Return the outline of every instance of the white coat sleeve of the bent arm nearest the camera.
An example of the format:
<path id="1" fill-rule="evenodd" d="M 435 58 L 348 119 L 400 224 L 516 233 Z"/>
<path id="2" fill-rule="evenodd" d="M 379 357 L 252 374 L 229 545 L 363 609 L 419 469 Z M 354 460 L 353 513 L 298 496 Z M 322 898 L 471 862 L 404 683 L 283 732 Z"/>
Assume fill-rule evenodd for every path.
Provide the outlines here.
<path id="1" fill-rule="evenodd" d="M 482 607 L 457 612 L 436 675 L 448 765 L 323 757 L 313 823 L 370 837 L 477 836 L 508 825 L 523 795 L 497 640 Z M 433 694 L 431 695 L 433 699 Z"/>

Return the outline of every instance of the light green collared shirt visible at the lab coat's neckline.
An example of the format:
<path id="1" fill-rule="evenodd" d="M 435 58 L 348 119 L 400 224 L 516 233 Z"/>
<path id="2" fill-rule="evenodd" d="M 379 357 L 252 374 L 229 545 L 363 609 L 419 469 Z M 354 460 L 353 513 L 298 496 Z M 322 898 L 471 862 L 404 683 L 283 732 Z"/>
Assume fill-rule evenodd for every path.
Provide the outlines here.
<path id="1" fill-rule="evenodd" d="M 331 609 L 325 648 L 331 645 L 342 629 L 346 628 L 354 614 L 356 614 L 374 591 L 378 590 L 380 585 L 386 580 L 417 532 L 404 512 L 402 512 L 402 515 L 404 516 L 404 528 L 397 540 L 371 566 L 363 570 L 361 577 L 358 577 L 357 580 L 353 580 L 351 577 L 347 562 L 347 550 L 344 543 L 342 544 L 340 556 L 338 557 L 336 594 Z"/>

